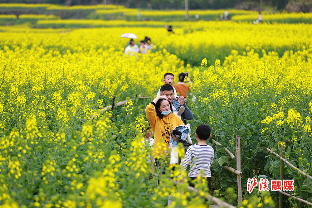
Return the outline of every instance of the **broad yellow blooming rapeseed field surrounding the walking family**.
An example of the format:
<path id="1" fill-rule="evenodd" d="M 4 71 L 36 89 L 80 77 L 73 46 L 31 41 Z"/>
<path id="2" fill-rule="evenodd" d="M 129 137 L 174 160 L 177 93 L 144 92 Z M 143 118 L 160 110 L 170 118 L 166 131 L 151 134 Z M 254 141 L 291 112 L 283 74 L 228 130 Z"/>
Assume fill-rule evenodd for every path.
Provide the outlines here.
<path id="1" fill-rule="evenodd" d="M 168 34 L 164 22 L 81 22 L 96 28 L 0 26 L 0 207 L 164 207 L 169 195 L 170 207 L 204 206 L 207 186 L 198 178 L 196 194 L 187 181 L 174 184 L 178 170 L 153 172 L 141 142 L 145 106 L 166 72 L 191 74 L 192 129 L 209 124 L 232 152 L 241 136 L 239 206 L 276 204 L 274 192 L 246 191 L 248 178 L 279 179 L 266 148 L 279 153 L 285 143 L 286 159 L 311 174 L 309 24 L 174 22 Z M 119 36 L 129 31 L 151 37 L 153 51 L 125 55 L 128 40 Z M 212 146 L 213 194 L 237 204 L 236 175 L 218 163 L 236 161 Z M 294 180 L 291 195 L 311 201 L 309 178 L 290 167 L 285 177 Z"/>

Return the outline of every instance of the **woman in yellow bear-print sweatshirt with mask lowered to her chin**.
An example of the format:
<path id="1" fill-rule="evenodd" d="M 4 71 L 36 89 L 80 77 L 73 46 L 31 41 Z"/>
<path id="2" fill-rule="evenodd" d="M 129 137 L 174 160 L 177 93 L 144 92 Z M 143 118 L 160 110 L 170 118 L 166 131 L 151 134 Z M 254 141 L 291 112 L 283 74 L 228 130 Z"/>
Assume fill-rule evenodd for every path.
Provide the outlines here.
<path id="1" fill-rule="evenodd" d="M 159 157 L 164 153 L 163 149 L 159 150 L 161 143 L 168 146 L 170 142 L 170 131 L 173 128 L 183 125 L 183 121 L 175 114 L 171 103 L 165 95 L 157 96 L 145 109 L 146 118 L 149 120 L 154 132 L 154 154 Z"/>

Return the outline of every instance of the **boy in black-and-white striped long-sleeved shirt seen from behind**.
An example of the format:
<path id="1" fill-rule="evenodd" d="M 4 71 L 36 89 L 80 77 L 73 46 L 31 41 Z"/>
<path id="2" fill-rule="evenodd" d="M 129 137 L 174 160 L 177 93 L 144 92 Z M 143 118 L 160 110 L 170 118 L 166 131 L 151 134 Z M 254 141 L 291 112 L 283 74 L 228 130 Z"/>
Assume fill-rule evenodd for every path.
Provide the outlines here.
<path id="1" fill-rule="evenodd" d="M 207 180 L 210 191 L 212 187 L 210 166 L 214 157 L 213 148 L 207 144 L 207 140 L 210 138 L 210 127 L 206 124 L 200 124 L 196 129 L 195 137 L 197 144 L 188 148 L 181 161 L 181 168 L 185 171 L 188 163 L 191 162 L 188 177 L 194 180 L 198 176 L 202 176 Z M 192 185 L 190 183 L 190 186 Z"/>

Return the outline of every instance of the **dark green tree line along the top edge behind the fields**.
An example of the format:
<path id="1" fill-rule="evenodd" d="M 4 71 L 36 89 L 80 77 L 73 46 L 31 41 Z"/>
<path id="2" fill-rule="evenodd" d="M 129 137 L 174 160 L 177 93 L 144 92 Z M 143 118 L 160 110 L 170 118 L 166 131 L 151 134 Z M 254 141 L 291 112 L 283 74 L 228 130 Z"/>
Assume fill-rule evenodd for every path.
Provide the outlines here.
<path id="1" fill-rule="evenodd" d="M 234 8 L 244 10 L 259 10 L 262 7 L 274 7 L 276 10 L 288 12 L 311 12 L 310 0 L 189 0 L 189 9 L 222 9 Z M 0 3 L 50 3 L 65 6 L 96 5 L 103 0 L 0 0 Z M 107 4 L 124 5 L 129 8 L 145 9 L 184 9 L 184 0 L 106 0 Z"/>

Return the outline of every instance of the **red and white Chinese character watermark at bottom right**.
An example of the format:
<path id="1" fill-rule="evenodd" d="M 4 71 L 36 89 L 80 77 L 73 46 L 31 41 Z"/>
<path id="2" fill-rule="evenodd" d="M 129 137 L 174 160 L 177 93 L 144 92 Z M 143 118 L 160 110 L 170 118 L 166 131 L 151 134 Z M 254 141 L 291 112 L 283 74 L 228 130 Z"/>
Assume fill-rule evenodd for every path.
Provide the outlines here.
<path id="1" fill-rule="evenodd" d="M 248 178 L 247 191 L 251 193 L 253 189 L 259 185 L 259 191 L 270 191 L 270 181 L 266 178 L 260 178 L 258 182 L 256 178 Z M 283 189 L 282 189 L 283 184 Z M 271 180 L 271 191 L 294 191 L 294 180 Z"/>

